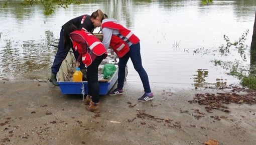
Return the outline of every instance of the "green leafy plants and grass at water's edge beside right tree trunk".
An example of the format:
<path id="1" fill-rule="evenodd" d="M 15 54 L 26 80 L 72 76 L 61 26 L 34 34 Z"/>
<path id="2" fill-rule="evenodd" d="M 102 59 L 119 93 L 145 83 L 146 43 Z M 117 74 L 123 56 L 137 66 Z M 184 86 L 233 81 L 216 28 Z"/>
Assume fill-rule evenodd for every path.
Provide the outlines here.
<path id="1" fill-rule="evenodd" d="M 249 30 L 246 29 L 242 35 L 233 42 L 230 41 L 227 35 L 223 35 L 225 44 L 218 47 L 218 50 L 211 50 L 218 59 L 211 60 L 215 66 L 226 69 L 228 75 L 233 75 L 240 79 L 240 83 L 250 89 L 256 90 L 256 67 L 249 66 L 247 62 L 247 52 L 249 52 L 249 47 L 245 44 Z M 206 50 L 204 48 L 198 48 L 193 51 L 193 53 L 204 53 Z M 218 53 L 215 53 L 218 52 Z M 251 54 L 253 55 L 253 54 Z M 226 58 L 230 57 L 229 60 Z M 230 60 L 231 59 L 231 60 Z"/>

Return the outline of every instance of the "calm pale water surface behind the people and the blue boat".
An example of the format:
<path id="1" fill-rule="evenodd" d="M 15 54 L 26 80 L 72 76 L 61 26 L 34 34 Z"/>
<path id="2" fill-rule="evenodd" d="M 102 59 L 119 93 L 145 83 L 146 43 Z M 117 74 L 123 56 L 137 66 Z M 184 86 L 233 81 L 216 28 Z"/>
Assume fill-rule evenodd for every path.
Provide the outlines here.
<path id="1" fill-rule="evenodd" d="M 193 50 L 217 49 L 225 44 L 224 34 L 237 40 L 246 29 L 245 44 L 250 45 L 255 0 L 213 0 L 209 5 L 201 0 L 88 1 L 56 8 L 49 16 L 40 5 L 23 7 L 10 2 L 9 7 L 1 7 L 0 78 L 46 80 L 57 50 L 50 44 L 57 45 L 61 25 L 99 8 L 139 36 L 143 65 L 151 82 L 180 86 L 239 82 L 210 62 L 216 55 L 195 54 Z M 140 81 L 131 60 L 128 67 L 127 80 Z"/>

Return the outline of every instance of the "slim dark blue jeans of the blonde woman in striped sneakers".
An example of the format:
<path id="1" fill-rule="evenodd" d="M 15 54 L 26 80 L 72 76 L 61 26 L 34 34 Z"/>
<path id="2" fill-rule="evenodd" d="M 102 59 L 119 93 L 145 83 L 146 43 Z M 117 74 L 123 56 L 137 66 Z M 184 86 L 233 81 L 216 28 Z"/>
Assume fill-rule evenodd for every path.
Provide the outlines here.
<path id="1" fill-rule="evenodd" d="M 137 44 L 132 44 L 130 46 L 130 50 L 123 57 L 119 58 L 117 88 L 122 89 L 123 87 L 123 81 L 125 78 L 125 67 L 130 57 L 134 64 L 135 70 L 139 73 L 141 77 L 144 91 L 147 93 L 151 92 L 148 74 L 142 66 L 140 42 Z"/>

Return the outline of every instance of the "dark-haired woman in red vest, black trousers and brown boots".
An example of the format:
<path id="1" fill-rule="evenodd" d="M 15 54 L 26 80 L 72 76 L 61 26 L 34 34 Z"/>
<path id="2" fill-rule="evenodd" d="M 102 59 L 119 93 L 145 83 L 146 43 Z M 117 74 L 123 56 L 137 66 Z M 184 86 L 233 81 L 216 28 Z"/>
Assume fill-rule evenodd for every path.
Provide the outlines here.
<path id="1" fill-rule="evenodd" d="M 72 23 L 65 24 L 64 28 L 64 46 L 73 45 L 75 51 L 79 52 L 76 66 L 82 61 L 87 66 L 88 92 L 85 103 L 88 110 L 95 113 L 99 112 L 99 83 L 98 83 L 98 66 L 107 56 L 106 49 L 102 42 L 85 28 L 77 29 Z M 66 47 L 65 47 L 66 48 Z M 89 94 L 89 93 L 88 93 Z"/>

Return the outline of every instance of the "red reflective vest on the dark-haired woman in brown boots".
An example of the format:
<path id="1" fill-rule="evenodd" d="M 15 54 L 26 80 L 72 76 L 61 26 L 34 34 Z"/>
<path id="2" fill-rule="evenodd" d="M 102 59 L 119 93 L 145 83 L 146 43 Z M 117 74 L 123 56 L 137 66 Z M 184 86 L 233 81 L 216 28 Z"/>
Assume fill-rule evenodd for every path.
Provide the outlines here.
<path id="1" fill-rule="evenodd" d="M 93 34 L 84 30 L 75 30 L 70 34 L 72 33 L 79 34 L 80 36 L 83 37 L 83 39 L 87 43 L 87 52 L 85 54 L 82 54 L 82 61 L 84 64 L 86 64 L 86 66 L 89 66 L 92 63 L 92 59 L 91 59 L 92 53 L 96 54 L 97 56 L 100 56 L 105 53 L 105 57 L 107 56 L 107 52 L 104 45 Z M 73 48 L 81 54 L 83 52 L 81 45 L 78 42 L 72 40 L 71 37 L 70 39 L 73 43 Z"/>

